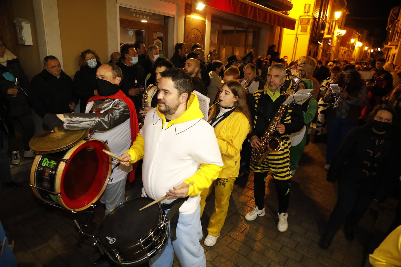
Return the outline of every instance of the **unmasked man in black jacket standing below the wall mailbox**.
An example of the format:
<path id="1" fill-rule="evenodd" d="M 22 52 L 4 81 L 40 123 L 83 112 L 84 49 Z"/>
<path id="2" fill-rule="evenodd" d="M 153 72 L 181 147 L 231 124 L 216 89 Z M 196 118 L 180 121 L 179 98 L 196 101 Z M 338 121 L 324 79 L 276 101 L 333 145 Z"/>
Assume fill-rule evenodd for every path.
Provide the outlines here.
<path id="1" fill-rule="evenodd" d="M 78 99 L 73 94 L 73 81 L 61 70 L 55 56 L 43 59 L 44 70 L 34 76 L 29 86 L 30 104 L 36 114 L 44 118 L 47 113 L 71 113 Z"/>

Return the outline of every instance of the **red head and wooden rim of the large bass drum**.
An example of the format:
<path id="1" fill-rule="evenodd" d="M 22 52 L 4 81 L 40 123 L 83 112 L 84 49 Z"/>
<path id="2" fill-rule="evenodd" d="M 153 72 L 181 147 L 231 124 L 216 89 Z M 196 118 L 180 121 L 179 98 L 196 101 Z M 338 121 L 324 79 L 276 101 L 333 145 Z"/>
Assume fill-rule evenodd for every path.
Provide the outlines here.
<path id="1" fill-rule="evenodd" d="M 80 141 L 71 148 L 57 170 L 56 191 L 62 194 L 57 197 L 60 204 L 74 211 L 84 210 L 103 194 L 111 172 L 109 155 L 101 141 Z"/>

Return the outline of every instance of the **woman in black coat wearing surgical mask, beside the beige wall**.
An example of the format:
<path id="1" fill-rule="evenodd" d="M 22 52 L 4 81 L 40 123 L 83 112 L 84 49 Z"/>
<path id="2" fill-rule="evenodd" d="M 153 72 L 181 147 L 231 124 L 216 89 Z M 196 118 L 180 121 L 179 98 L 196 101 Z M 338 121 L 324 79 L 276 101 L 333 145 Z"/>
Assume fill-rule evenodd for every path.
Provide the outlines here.
<path id="1" fill-rule="evenodd" d="M 87 49 L 79 56 L 79 70 L 74 76 L 74 94 L 79 97 L 79 110 L 85 112 L 88 99 L 97 94 L 96 92 L 96 71 L 101 65 L 99 56 L 95 51 Z"/>

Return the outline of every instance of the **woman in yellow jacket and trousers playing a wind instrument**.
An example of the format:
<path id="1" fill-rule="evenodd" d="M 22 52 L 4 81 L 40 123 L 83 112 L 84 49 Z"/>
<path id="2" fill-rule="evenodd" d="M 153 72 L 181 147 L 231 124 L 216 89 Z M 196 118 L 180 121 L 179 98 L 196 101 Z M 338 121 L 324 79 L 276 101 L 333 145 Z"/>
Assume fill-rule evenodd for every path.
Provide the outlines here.
<path id="1" fill-rule="evenodd" d="M 215 128 L 215 134 L 223 159 L 223 169 L 212 186 L 201 193 L 201 216 L 205 208 L 205 199 L 215 189 L 215 210 L 210 217 L 205 238 L 206 246 L 213 246 L 223 228 L 227 217 L 229 199 L 234 181 L 239 174 L 240 151 L 242 143 L 251 130 L 251 120 L 246 103 L 245 91 L 235 80 L 225 82 L 220 90 L 219 105 L 209 114 L 209 122 Z"/>

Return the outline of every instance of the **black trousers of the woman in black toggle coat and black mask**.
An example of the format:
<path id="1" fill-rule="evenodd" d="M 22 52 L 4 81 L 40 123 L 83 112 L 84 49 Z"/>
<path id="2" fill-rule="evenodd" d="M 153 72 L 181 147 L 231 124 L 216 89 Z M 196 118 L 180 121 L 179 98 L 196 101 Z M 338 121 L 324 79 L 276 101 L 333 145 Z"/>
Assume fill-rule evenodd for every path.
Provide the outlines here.
<path id="1" fill-rule="evenodd" d="M 325 237 L 333 238 L 342 223 L 354 229 L 375 198 L 375 187 L 350 180 L 338 181 L 338 199 L 328 220 Z"/>

